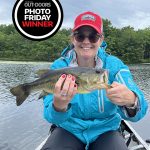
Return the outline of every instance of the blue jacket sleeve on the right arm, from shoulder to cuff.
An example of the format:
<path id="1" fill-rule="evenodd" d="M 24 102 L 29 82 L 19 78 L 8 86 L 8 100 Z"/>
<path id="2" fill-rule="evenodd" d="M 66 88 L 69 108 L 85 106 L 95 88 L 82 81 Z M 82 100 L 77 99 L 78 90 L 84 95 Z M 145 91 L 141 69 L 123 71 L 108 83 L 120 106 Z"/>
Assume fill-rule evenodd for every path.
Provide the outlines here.
<path id="1" fill-rule="evenodd" d="M 134 82 L 128 66 L 126 66 L 120 59 L 114 56 L 108 56 L 106 62 L 106 68 L 111 68 L 109 75 L 110 83 L 116 81 L 118 83 L 126 85 L 128 89 L 136 94 L 138 99 L 138 109 L 134 117 L 130 117 L 124 107 L 118 106 L 118 113 L 120 114 L 122 119 L 129 121 L 136 122 L 142 119 L 147 112 L 147 100 L 145 99 L 143 92 Z"/>

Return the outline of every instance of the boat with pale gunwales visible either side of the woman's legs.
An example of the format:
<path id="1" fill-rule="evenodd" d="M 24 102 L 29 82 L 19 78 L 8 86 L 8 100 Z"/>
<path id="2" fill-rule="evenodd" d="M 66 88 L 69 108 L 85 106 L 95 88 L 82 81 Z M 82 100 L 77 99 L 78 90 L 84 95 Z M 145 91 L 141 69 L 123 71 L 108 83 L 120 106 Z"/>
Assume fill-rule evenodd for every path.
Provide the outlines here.
<path id="1" fill-rule="evenodd" d="M 146 141 L 142 139 L 142 137 L 129 124 L 129 122 L 122 120 L 120 126 L 120 132 L 123 135 L 129 150 L 150 150 L 150 139 Z M 35 150 L 40 150 L 42 146 L 45 144 L 45 142 L 47 141 L 49 136 L 50 134 Z"/>

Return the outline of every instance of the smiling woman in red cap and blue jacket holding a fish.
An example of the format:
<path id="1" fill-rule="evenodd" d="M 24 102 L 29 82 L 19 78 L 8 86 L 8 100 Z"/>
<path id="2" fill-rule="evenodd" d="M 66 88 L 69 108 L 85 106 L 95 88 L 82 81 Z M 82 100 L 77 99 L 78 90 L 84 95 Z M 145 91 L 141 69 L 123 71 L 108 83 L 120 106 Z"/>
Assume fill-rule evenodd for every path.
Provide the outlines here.
<path id="1" fill-rule="evenodd" d="M 44 98 L 44 117 L 57 127 L 42 150 L 127 150 L 118 131 L 120 122 L 144 117 L 147 103 L 143 93 L 134 83 L 129 68 L 105 52 L 99 15 L 84 12 L 77 16 L 71 41 L 73 47 L 64 49 L 62 57 L 54 61 L 51 68 L 108 69 L 112 88 L 77 94 L 75 77 L 63 74 L 54 94 Z"/>

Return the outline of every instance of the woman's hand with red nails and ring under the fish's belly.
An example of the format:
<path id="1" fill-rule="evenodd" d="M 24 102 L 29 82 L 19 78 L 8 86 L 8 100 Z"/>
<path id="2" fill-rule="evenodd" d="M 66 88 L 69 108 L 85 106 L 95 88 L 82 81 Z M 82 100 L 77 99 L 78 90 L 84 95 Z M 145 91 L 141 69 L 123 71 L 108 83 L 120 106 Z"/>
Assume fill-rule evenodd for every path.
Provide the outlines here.
<path id="1" fill-rule="evenodd" d="M 75 77 L 63 74 L 55 84 L 53 105 L 56 111 L 66 111 L 69 102 L 76 93 Z"/>

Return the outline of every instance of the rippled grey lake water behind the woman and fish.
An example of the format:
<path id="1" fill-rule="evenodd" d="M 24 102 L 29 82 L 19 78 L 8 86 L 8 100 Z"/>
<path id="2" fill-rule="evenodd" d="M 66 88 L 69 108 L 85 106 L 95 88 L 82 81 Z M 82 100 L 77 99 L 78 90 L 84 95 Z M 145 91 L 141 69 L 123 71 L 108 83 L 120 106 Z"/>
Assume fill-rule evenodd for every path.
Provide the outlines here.
<path id="1" fill-rule="evenodd" d="M 30 95 L 17 107 L 9 89 L 35 80 L 35 73 L 50 63 L 0 62 L 0 150 L 34 150 L 47 136 L 50 124 L 43 118 L 43 102 L 38 94 Z M 150 100 L 150 65 L 130 65 L 138 86 Z M 132 123 L 137 132 L 150 139 L 150 111 L 138 123 Z"/>

